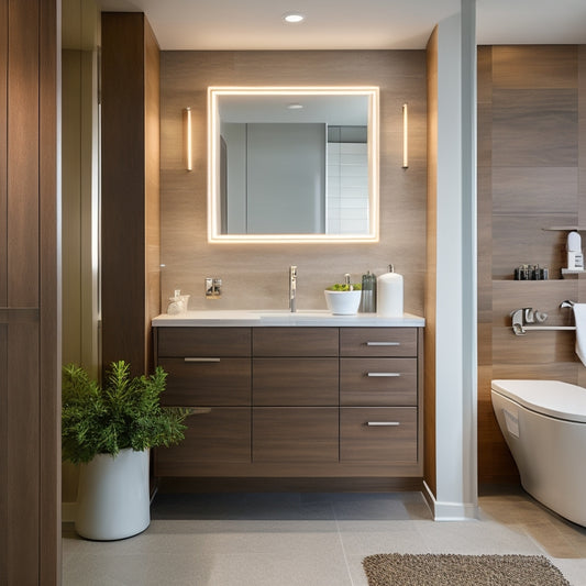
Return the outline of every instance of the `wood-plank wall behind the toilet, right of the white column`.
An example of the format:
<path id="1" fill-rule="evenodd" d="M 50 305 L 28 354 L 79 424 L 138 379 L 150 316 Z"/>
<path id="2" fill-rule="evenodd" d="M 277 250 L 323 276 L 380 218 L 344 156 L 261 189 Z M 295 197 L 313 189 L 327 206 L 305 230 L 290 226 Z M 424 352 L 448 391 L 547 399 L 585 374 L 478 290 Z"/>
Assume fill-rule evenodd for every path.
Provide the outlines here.
<path id="1" fill-rule="evenodd" d="M 509 313 L 533 307 L 570 323 L 564 299 L 586 300 L 584 279 L 560 278 L 567 232 L 586 225 L 584 46 L 493 46 L 478 52 L 478 473 L 518 473 L 493 413 L 494 378 L 586 383 L 573 332 L 516 336 Z M 582 75 L 581 75 L 582 74 Z M 586 233 L 582 232 L 585 237 Z M 520 264 L 548 266 L 548 281 L 513 280 Z"/>

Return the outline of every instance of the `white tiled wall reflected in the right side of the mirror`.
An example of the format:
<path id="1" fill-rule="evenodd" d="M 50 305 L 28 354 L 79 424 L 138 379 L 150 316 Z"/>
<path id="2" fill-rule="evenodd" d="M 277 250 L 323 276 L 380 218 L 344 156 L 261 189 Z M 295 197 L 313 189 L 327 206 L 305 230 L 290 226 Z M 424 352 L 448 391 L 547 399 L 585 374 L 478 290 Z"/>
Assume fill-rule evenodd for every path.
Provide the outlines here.
<path id="1" fill-rule="evenodd" d="M 328 233 L 368 233 L 368 145 L 328 143 L 327 165 Z"/>

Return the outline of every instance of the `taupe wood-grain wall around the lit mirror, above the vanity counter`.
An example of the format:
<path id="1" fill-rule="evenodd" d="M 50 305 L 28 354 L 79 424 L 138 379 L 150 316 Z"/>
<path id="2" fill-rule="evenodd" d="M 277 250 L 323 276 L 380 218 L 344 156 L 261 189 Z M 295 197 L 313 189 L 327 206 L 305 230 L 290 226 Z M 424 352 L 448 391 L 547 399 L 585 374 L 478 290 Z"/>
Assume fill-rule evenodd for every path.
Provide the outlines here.
<path id="1" fill-rule="evenodd" d="M 288 267 L 299 268 L 298 307 L 325 309 L 323 288 L 350 273 L 405 277 L 405 308 L 423 311 L 425 274 L 425 52 L 163 52 L 161 59 L 161 262 L 163 310 L 174 289 L 190 309 L 287 307 Z M 207 241 L 208 86 L 378 86 L 380 242 L 374 244 L 209 244 Z M 401 168 L 402 110 L 409 103 L 410 167 Z M 181 111 L 191 107 L 195 169 L 183 165 Z M 220 300 L 203 298 L 204 277 L 221 277 Z"/>

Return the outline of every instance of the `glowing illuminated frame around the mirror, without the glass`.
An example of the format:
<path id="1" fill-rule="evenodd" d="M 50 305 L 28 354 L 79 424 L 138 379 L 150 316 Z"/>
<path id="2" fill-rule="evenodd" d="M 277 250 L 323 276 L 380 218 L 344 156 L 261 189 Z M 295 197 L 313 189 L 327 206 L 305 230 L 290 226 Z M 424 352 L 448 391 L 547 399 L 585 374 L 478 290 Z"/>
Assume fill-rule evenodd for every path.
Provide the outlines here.
<path id="1" fill-rule="evenodd" d="M 368 98 L 367 234 L 222 234 L 220 231 L 220 114 L 222 96 L 365 96 Z M 209 87 L 208 242 L 378 242 L 378 88 L 376 87 Z"/>

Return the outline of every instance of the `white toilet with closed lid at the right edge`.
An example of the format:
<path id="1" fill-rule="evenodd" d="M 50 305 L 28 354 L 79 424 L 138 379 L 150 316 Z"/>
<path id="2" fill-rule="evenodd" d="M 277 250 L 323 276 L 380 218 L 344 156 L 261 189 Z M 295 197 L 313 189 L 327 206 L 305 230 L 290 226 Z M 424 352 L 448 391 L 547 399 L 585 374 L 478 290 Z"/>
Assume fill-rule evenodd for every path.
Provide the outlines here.
<path id="1" fill-rule="evenodd" d="M 490 395 L 523 488 L 586 527 L 586 388 L 560 380 L 493 380 Z"/>

